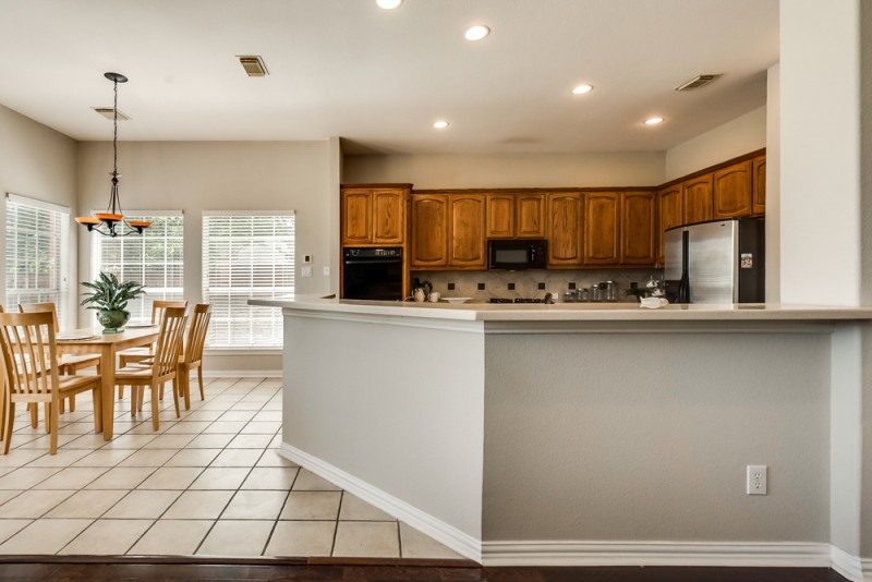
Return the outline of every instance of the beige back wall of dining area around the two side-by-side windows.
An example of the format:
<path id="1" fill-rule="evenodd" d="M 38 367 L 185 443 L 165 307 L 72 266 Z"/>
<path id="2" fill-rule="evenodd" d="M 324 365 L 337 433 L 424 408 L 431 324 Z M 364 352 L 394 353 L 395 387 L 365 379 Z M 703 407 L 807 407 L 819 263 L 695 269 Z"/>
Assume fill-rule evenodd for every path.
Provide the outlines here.
<path id="1" fill-rule="evenodd" d="M 78 207 L 82 213 L 106 207 L 112 145 L 78 146 Z M 296 213 L 296 290 L 330 290 L 331 199 L 330 143 L 325 142 L 137 142 L 119 144 L 121 204 L 125 210 L 174 210 L 185 216 L 184 293 L 202 296 L 203 210 L 294 210 Z M 338 217 L 336 218 L 338 220 Z M 90 277 L 93 235 L 80 229 L 78 277 Z M 300 276 L 303 254 L 312 254 L 314 276 Z M 81 314 L 87 322 L 89 315 Z M 208 362 L 217 369 L 281 369 L 274 355 L 222 355 Z"/>

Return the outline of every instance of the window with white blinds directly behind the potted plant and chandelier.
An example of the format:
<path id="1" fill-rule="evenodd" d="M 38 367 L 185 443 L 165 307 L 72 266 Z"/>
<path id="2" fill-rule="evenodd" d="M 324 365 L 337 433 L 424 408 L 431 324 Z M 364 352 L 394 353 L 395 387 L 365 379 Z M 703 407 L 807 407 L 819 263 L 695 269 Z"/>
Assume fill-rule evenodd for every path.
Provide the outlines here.
<path id="1" fill-rule="evenodd" d="M 155 300 L 184 299 L 184 216 L 181 211 L 143 210 L 128 220 L 150 220 L 142 235 L 92 239 L 92 278 L 100 270 L 122 281 L 145 286 L 145 295 L 131 301 L 131 320 L 149 322 Z"/>

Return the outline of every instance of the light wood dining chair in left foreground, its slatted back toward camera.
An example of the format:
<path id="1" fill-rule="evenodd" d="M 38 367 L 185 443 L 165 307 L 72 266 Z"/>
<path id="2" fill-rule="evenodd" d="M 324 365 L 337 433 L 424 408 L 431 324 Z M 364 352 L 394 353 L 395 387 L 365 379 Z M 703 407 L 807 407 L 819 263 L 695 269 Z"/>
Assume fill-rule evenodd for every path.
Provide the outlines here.
<path id="1" fill-rule="evenodd" d="M 0 313 L 0 344 L 5 368 L 3 407 L 3 454 L 9 452 L 15 403 L 47 404 L 46 425 L 49 451 L 58 452 L 60 400 L 70 395 L 92 391 L 94 429 L 102 431 L 100 376 L 59 374 L 55 323 L 50 313 Z"/>

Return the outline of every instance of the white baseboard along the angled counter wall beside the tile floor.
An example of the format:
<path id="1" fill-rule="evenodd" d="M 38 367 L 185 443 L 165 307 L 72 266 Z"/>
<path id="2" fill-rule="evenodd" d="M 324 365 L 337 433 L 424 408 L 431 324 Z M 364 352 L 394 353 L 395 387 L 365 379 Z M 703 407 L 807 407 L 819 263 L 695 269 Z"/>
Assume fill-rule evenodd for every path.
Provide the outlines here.
<path id="1" fill-rule="evenodd" d="M 431 536 L 440 544 L 448 546 L 461 556 L 479 562 L 482 561 L 482 544 L 480 539 L 287 442 L 281 444 L 279 453 Z"/>

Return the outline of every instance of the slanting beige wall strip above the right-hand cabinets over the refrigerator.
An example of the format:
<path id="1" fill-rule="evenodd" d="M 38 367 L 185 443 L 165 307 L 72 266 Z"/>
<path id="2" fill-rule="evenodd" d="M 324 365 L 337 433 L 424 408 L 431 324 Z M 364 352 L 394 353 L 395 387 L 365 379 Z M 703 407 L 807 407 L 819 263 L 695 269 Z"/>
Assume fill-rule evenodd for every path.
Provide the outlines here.
<path id="1" fill-rule="evenodd" d="M 766 107 L 734 119 L 666 150 L 666 180 L 766 147 Z"/>

